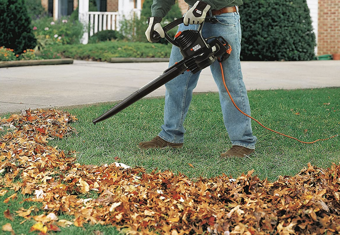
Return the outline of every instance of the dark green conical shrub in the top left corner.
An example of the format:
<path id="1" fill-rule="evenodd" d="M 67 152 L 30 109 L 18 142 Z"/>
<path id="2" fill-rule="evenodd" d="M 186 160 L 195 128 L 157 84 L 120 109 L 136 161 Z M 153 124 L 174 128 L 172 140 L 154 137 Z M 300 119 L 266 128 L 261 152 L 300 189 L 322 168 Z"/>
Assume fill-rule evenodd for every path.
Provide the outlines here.
<path id="1" fill-rule="evenodd" d="M 24 0 L 0 0 L 0 46 L 14 49 L 15 54 L 34 48 L 36 39 L 30 24 Z"/>

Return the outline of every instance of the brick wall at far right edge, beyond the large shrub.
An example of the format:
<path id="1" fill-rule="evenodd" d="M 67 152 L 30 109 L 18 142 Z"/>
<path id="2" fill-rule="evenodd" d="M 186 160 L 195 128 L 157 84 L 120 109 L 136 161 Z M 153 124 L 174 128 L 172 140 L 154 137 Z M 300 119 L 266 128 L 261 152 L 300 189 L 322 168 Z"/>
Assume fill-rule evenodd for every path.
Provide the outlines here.
<path id="1" fill-rule="evenodd" d="M 319 0 L 318 55 L 340 53 L 340 1 Z"/>

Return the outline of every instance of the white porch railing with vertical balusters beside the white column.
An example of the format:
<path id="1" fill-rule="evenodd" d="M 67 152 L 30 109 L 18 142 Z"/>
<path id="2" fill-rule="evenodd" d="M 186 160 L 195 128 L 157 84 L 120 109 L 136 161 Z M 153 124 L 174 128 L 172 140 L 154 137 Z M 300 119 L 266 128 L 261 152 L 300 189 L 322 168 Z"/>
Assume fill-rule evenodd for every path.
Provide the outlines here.
<path id="1" fill-rule="evenodd" d="M 102 30 L 119 30 L 118 12 L 88 12 L 89 36 Z"/>

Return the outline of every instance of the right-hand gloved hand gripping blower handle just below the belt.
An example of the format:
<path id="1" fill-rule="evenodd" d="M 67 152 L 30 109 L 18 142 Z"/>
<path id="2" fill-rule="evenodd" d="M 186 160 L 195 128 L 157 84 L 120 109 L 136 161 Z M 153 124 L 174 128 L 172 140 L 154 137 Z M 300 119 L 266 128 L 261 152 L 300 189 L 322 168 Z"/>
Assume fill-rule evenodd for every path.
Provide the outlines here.
<path id="1" fill-rule="evenodd" d="M 210 5 L 203 1 L 197 1 L 184 16 L 184 25 L 200 24 L 204 21 L 207 11 L 209 11 Z"/>

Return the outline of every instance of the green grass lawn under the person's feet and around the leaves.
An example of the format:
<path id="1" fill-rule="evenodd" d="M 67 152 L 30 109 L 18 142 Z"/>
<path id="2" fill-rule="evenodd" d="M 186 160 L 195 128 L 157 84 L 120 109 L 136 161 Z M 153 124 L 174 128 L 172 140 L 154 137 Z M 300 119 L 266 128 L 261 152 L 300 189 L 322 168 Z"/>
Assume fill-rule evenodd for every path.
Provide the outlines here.
<path id="1" fill-rule="evenodd" d="M 248 95 L 252 116 L 271 129 L 303 141 L 327 138 L 339 133 L 340 88 L 256 90 L 249 91 Z M 187 133 L 182 149 L 140 150 L 137 147 L 140 141 L 150 140 L 159 133 L 160 125 L 163 124 L 164 98 L 140 100 L 114 117 L 92 124 L 92 119 L 112 106 L 105 104 L 68 110 L 78 116 L 79 121 L 72 124 L 78 133 L 54 139 L 49 144 L 65 152 L 75 150 L 81 164 L 122 162 L 132 167 L 142 166 L 148 172 L 155 168 L 162 171 L 170 169 L 191 178 L 210 178 L 222 173 L 236 178 L 242 172 L 255 169 L 254 174 L 258 174 L 260 179 L 274 181 L 279 175 L 295 175 L 308 162 L 323 168 L 333 162 L 340 162 L 340 137 L 314 144 L 301 144 L 269 132 L 256 122 L 253 122 L 253 133 L 258 137 L 255 154 L 245 158 L 221 159 L 220 154 L 230 148 L 231 143 L 223 125 L 217 93 L 193 96 L 184 123 Z M 34 220 L 20 224 L 22 217 L 15 217 L 14 221 L 4 218 L 3 212 L 7 208 L 14 213 L 20 207 L 28 208 L 34 204 L 39 206 L 32 202 L 19 204 L 24 198 L 20 192 L 17 200 L 3 203 L 12 193 L 10 191 L 0 197 L 0 227 L 10 222 L 16 234 L 37 234 L 28 233 Z M 67 215 L 59 218 L 72 219 Z M 103 234 L 117 233 L 112 226 L 84 224 L 84 228 L 72 225 L 62 228 L 56 234 L 85 235 L 95 234 L 96 230 Z"/>

